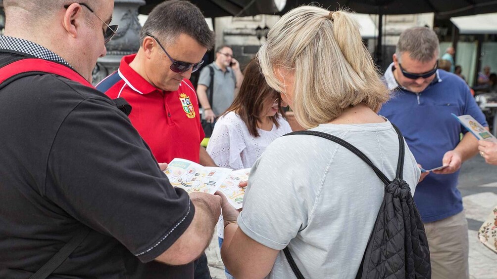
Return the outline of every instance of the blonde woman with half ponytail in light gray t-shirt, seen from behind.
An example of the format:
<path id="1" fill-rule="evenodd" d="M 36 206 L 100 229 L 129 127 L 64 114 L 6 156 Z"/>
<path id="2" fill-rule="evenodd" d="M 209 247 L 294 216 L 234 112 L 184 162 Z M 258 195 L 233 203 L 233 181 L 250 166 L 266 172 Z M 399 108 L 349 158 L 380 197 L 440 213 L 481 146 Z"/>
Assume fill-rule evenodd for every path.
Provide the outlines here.
<path id="1" fill-rule="evenodd" d="M 305 128 L 339 137 L 393 179 L 399 139 L 379 116 L 389 92 L 349 12 L 301 6 L 285 14 L 257 57 L 267 84 Z M 405 146 L 404 179 L 420 171 Z M 239 214 L 223 200 L 221 255 L 237 279 L 355 278 L 385 185 L 342 146 L 316 136 L 273 141 L 255 162 Z"/>

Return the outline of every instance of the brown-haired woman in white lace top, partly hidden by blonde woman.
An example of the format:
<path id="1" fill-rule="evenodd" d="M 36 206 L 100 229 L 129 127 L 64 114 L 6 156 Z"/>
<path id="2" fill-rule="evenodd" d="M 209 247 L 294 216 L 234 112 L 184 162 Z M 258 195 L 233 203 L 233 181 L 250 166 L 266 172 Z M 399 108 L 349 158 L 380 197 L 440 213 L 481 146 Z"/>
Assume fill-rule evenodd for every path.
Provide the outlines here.
<path id="1" fill-rule="evenodd" d="M 271 89 L 252 59 L 244 71 L 240 92 L 220 117 L 207 146 L 207 153 L 219 167 L 243 169 L 252 167 L 266 147 L 278 137 L 290 133 L 283 118 L 286 106 Z M 219 247 L 223 243 L 223 219 L 218 223 Z M 227 278 L 232 278 L 227 273 Z"/>

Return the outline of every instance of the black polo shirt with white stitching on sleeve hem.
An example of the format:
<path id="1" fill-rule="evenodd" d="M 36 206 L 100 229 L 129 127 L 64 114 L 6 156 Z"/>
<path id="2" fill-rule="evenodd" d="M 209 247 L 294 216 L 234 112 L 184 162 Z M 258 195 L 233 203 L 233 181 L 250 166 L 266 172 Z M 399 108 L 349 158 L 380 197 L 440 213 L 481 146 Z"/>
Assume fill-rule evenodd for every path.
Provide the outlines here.
<path id="1" fill-rule="evenodd" d="M 0 278 L 29 278 L 84 226 L 49 278 L 189 278 L 191 264 L 153 260 L 193 215 L 104 94 L 53 74 L 0 89 Z"/>

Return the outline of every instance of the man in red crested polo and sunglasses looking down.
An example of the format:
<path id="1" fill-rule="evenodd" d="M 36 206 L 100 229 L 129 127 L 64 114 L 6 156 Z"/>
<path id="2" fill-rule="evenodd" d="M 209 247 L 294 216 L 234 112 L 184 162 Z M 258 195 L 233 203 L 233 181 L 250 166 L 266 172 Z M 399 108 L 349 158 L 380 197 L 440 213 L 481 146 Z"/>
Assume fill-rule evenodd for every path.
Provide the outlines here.
<path id="1" fill-rule="evenodd" d="M 131 123 L 149 145 L 156 160 L 183 158 L 215 166 L 200 146 L 197 95 L 188 80 L 214 46 L 202 12 L 189 1 L 170 0 L 150 12 L 140 33 L 140 49 L 124 56 L 119 69 L 97 89 L 131 106 Z M 210 279 L 205 253 L 194 262 L 195 279 Z"/>

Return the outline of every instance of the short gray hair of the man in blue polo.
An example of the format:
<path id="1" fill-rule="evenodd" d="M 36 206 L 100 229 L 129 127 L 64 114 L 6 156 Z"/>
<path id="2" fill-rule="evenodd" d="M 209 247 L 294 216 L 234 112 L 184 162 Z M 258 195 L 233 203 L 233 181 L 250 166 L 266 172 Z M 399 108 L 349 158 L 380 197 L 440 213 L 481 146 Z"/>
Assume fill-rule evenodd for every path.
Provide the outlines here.
<path id="1" fill-rule="evenodd" d="M 427 27 L 409 28 L 402 32 L 397 43 L 395 53 L 399 61 L 405 52 L 416 61 L 427 62 L 440 53 L 438 37 Z"/>

